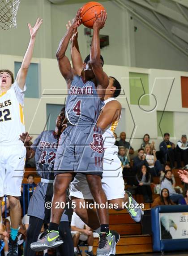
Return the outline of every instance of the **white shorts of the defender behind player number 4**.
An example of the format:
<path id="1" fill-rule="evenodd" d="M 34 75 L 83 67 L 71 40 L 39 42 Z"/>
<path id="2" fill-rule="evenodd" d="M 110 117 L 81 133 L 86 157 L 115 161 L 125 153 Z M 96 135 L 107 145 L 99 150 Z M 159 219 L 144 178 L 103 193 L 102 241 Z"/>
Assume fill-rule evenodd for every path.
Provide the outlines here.
<path id="1" fill-rule="evenodd" d="M 106 148 L 103 159 L 102 188 L 107 200 L 124 198 L 124 180 L 118 149 Z M 85 175 L 78 173 L 70 184 L 70 196 L 81 199 L 93 199 Z"/>

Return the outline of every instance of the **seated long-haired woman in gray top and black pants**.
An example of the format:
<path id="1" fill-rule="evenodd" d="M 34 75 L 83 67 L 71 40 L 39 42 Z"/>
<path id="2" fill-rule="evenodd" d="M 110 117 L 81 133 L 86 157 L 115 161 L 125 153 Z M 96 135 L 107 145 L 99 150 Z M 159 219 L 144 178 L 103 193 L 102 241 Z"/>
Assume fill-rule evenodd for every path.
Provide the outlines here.
<path id="1" fill-rule="evenodd" d="M 142 165 L 137 175 L 138 187 L 137 193 L 142 194 L 144 197 L 144 202 L 153 202 L 152 200 L 152 191 L 151 191 L 151 175 L 148 170 L 148 167 Z"/>

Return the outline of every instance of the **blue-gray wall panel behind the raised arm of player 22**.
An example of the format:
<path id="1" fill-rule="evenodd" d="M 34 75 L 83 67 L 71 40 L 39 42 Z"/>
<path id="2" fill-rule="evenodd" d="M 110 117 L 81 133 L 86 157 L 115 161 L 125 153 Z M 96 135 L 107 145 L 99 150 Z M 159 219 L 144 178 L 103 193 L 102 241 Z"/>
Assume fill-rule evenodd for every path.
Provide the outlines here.
<path id="1" fill-rule="evenodd" d="M 14 62 L 15 79 L 17 72 L 21 67 L 21 62 Z M 39 83 L 38 83 L 38 63 L 31 63 L 27 77 L 26 77 L 27 90 L 25 92 L 26 98 L 39 98 Z"/>

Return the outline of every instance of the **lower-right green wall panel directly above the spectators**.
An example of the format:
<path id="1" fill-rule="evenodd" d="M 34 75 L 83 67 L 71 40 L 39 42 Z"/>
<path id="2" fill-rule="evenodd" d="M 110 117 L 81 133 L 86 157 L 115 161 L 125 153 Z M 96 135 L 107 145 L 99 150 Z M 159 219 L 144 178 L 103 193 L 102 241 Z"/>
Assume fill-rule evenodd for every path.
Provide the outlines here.
<path id="1" fill-rule="evenodd" d="M 163 113 L 163 115 L 162 115 Z M 162 117 L 162 120 L 161 120 Z M 160 123 L 161 120 L 161 123 Z M 160 128 L 159 128 L 160 124 Z M 157 111 L 157 129 L 158 136 L 162 137 L 165 132 L 168 132 L 172 137 L 174 136 L 174 113 L 168 111 Z"/>

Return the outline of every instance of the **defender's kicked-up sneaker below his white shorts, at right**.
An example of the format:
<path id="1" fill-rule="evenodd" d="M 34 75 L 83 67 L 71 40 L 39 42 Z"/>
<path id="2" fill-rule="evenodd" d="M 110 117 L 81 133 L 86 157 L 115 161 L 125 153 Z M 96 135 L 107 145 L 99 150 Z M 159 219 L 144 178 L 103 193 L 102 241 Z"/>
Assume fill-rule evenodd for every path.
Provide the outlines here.
<path id="1" fill-rule="evenodd" d="M 127 190 L 125 192 L 128 194 L 129 201 L 127 211 L 131 216 L 132 220 L 140 222 L 142 217 L 141 208 L 139 207 L 139 204 L 136 202 L 136 200 L 134 200 L 134 198 L 132 197 L 132 194 Z"/>

